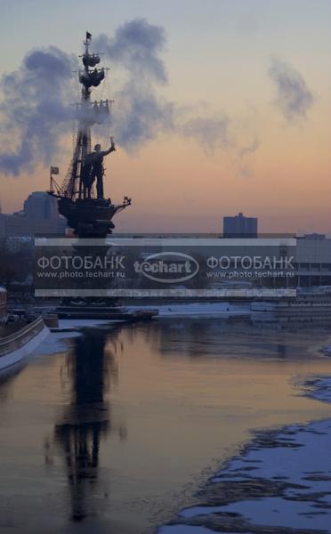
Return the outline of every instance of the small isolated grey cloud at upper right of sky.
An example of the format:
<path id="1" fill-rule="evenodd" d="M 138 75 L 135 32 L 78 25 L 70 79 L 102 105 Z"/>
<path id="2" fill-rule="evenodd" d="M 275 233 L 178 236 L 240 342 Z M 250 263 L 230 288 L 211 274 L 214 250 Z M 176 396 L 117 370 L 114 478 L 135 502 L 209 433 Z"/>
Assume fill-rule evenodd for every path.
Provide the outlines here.
<path id="1" fill-rule="evenodd" d="M 287 121 L 305 118 L 315 99 L 300 72 L 285 61 L 273 58 L 269 75 L 277 89 L 275 103 Z"/>

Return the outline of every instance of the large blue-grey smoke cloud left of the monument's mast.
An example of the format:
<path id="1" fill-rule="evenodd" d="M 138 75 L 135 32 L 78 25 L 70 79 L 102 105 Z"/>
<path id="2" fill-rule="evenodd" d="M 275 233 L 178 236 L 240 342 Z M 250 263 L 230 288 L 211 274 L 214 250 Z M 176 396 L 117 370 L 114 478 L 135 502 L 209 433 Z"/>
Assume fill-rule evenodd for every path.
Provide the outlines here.
<path id="1" fill-rule="evenodd" d="M 0 169 L 5 174 L 29 170 L 36 159 L 47 164 L 58 150 L 72 117 L 68 101 L 73 65 L 66 53 L 49 47 L 28 53 L 20 69 L 2 78 L 0 133 L 8 151 L 0 150 Z"/>

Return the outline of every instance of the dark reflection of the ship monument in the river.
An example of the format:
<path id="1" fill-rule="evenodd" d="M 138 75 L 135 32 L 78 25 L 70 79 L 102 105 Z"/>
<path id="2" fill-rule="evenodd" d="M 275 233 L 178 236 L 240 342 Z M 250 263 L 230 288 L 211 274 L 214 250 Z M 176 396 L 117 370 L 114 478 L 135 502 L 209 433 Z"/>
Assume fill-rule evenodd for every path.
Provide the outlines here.
<path id="1" fill-rule="evenodd" d="M 47 463 L 52 449 L 56 455 L 60 452 L 65 460 L 73 521 L 96 514 L 107 494 L 107 481 L 100 480 L 101 441 L 109 433 L 117 433 L 120 440 L 126 438 L 125 425 L 111 421 L 105 401 L 109 387 L 117 382 L 114 336 L 117 336 L 115 332 L 110 337 L 107 332 L 91 329 L 75 338 L 68 366 L 61 373 L 62 380 L 69 381 L 71 401 L 55 425 L 55 448 L 48 440 L 45 443 Z M 111 340 L 114 346 L 109 349 Z"/>

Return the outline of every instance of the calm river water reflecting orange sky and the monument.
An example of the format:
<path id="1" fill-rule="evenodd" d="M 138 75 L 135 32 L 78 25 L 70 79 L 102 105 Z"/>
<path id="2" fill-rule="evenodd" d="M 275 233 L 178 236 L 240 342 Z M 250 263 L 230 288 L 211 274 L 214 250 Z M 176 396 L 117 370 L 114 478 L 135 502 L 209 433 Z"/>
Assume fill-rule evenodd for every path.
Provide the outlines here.
<path id="1" fill-rule="evenodd" d="M 148 534 L 253 429 L 308 424 L 329 329 L 159 320 L 49 336 L 0 376 L 0 532 Z"/>

